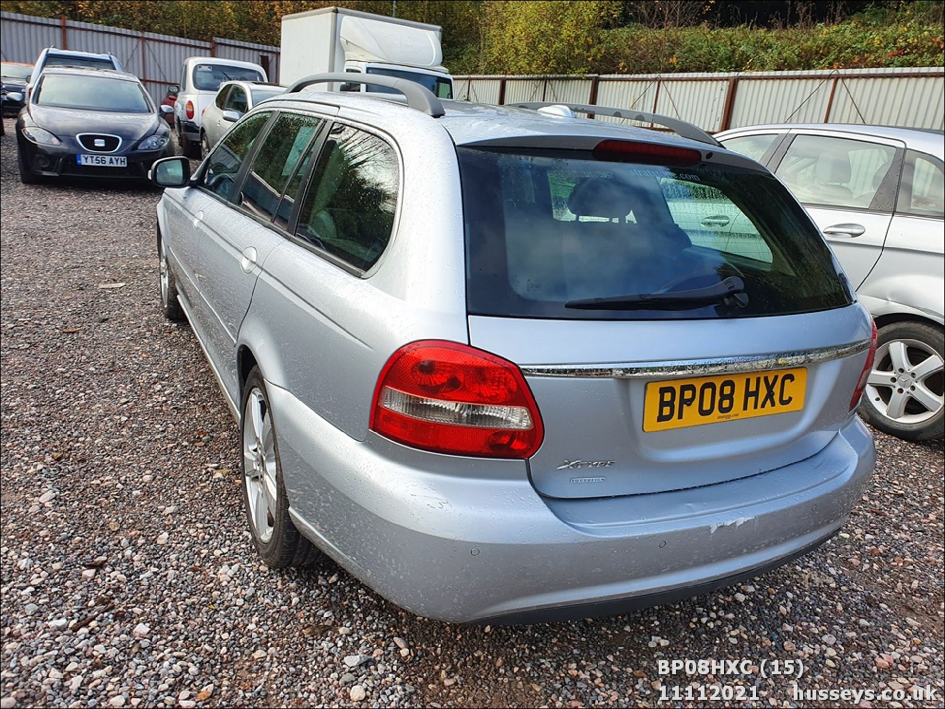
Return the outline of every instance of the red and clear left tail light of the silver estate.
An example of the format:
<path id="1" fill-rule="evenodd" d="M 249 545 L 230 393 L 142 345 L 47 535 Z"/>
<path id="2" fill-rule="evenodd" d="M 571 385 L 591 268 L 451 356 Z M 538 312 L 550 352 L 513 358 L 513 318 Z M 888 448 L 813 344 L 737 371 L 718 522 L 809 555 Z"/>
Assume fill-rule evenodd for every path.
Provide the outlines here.
<path id="1" fill-rule="evenodd" d="M 489 352 L 425 340 L 391 355 L 374 389 L 371 430 L 438 453 L 527 458 L 541 414 L 519 368 Z"/>

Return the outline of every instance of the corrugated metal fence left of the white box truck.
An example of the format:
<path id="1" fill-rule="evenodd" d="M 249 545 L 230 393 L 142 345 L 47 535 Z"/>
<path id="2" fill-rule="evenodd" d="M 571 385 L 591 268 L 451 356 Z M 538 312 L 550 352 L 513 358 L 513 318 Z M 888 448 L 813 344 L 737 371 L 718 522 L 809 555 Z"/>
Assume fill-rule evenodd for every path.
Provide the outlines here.
<path id="1" fill-rule="evenodd" d="M 182 37 L 136 32 L 60 18 L 0 12 L 0 54 L 4 61 L 33 63 L 45 47 L 109 53 L 125 70 L 141 78 L 151 97 L 161 103 L 168 84 L 180 81 L 183 60 L 193 56 L 242 59 L 261 64 L 270 80 L 279 76 L 279 47 L 215 37 L 198 42 Z"/>

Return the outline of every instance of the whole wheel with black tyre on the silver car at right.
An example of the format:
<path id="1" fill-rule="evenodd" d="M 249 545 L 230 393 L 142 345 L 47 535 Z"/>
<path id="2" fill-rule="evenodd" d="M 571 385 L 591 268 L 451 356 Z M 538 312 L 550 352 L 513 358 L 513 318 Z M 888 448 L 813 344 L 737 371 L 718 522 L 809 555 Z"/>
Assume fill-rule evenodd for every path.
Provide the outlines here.
<path id="1" fill-rule="evenodd" d="M 876 361 L 860 414 L 877 429 L 906 441 L 942 437 L 945 334 L 914 321 L 879 329 Z"/>

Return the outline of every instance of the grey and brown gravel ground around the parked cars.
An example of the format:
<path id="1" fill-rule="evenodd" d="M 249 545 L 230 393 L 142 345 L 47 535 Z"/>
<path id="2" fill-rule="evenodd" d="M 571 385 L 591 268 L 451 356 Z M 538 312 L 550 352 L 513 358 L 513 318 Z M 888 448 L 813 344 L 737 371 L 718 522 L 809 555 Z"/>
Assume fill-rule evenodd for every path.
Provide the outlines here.
<path id="1" fill-rule="evenodd" d="M 191 330 L 158 308 L 158 194 L 23 186 L 15 159 L 8 132 L 3 707 L 656 706 L 661 686 L 693 683 L 757 691 L 757 706 L 855 705 L 762 676 L 791 659 L 801 689 L 930 685 L 929 701 L 862 705 L 941 705 L 940 445 L 877 434 L 876 476 L 839 537 L 751 584 L 626 616 L 451 626 L 330 563 L 266 570 L 236 427 Z M 678 658 L 753 667 L 661 676 Z"/>

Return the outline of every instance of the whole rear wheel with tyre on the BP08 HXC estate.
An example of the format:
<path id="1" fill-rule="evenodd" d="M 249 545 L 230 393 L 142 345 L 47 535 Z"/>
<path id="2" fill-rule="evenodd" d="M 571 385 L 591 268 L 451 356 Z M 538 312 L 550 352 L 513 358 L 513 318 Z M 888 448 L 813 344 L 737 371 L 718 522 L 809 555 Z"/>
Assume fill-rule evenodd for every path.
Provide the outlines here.
<path id="1" fill-rule="evenodd" d="M 259 367 L 249 372 L 240 411 L 243 502 L 253 544 L 269 568 L 313 564 L 322 553 L 289 516 L 275 423 Z"/>

